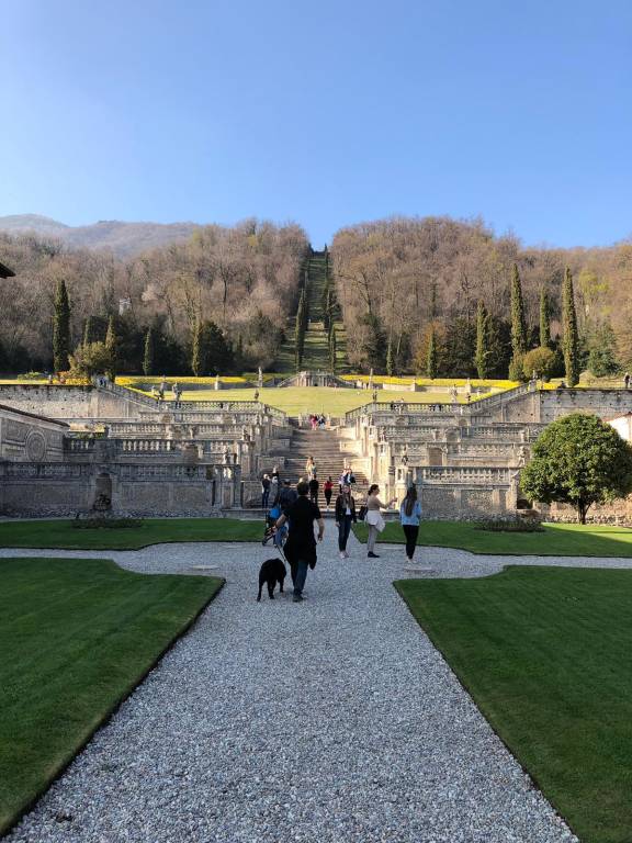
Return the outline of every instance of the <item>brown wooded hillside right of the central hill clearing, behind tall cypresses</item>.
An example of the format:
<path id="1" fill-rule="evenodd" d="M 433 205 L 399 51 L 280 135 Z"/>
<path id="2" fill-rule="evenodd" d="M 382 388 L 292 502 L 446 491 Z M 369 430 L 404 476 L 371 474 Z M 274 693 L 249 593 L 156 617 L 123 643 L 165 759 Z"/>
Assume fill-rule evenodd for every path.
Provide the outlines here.
<path id="1" fill-rule="evenodd" d="M 341 229 L 331 256 L 350 362 L 357 369 L 424 372 L 432 341 L 438 374 L 475 375 L 482 302 L 494 342 L 488 376 L 506 376 L 515 265 L 522 285 L 528 349 L 540 344 L 542 291 L 551 308 L 551 345 L 556 347 L 561 288 L 569 267 L 583 366 L 605 356 L 606 368 L 632 367 L 630 243 L 594 249 L 523 249 L 516 237 L 498 237 L 481 221 L 393 217 Z"/>

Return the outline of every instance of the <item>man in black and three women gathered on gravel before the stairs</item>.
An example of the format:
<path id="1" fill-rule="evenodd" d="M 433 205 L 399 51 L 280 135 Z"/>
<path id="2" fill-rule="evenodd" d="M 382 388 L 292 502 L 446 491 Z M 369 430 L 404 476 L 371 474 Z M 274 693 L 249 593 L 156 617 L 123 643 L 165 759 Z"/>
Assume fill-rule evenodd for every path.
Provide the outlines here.
<path id="1" fill-rule="evenodd" d="M 274 522 L 276 536 L 285 535 L 286 540 L 283 547 L 285 559 L 290 563 L 293 583 L 293 599 L 295 603 L 303 600 L 303 589 L 307 578 L 307 571 L 314 570 L 317 561 L 316 544 L 323 541 L 325 535 L 325 520 L 318 508 L 318 504 L 311 499 L 309 483 L 301 480 L 296 484 L 296 490 L 290 486 L 285 481 L 283 495 L 279 496 L 278 517 Z M 364 518 L 369 527 L 369 538 L 366 542 L 368 559 L 380 559 L 375 553 L 375 542 L 377 536 L 384 529 L 385 522 L 382 516 L 383 509 L 391 508 L 396 503 L 396 498 L 388 503 L 380 499 L 380 487 L 373 483 L 369 487 L 366 498 L 363 504 Z M 359 513 L 356 509 L 356 499 L 351 494 L 351 485 L 345 483 L 340 494 L 336 498 L 335 518 L 338 529 L 338 552 L 340 559 L 348 559 L 347 543 L 351 532 L 351 525 L 358 521 Z M 421 519 L 421 504 L 417 496 L 417 487 L 411 485 L 399 506 L 399 519 L 404 535 L 406 537 L 406 558 L 413 561 L 417 537 L 419 535 L 419 522 Z M 315 525 L 318 528 L 315 535 Z"/>

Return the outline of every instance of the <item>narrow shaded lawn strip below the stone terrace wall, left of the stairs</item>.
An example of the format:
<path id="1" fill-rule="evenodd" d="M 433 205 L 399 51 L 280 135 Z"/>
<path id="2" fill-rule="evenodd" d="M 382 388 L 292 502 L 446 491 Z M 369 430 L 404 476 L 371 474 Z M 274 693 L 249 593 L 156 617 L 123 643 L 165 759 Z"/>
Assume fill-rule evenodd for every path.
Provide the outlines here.
<path id="1" fill-rule="evenodd" d="M 138 527 L 77 529 L 74 521 L 0 522 L 2 548 L 136 550 L 170 541 L 260 541 L 263 521 L 237 518 L 145 518 Z"/>

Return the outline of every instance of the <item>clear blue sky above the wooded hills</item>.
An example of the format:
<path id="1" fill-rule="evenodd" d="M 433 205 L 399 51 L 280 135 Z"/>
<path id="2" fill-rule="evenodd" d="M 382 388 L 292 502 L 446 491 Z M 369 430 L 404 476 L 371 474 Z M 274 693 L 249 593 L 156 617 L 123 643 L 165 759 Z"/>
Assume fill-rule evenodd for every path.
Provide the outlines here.
<path id="1" fill-rule="evenodd" d="M 629 0 L 0 0 L 0 214 L 632 233 Z"/>

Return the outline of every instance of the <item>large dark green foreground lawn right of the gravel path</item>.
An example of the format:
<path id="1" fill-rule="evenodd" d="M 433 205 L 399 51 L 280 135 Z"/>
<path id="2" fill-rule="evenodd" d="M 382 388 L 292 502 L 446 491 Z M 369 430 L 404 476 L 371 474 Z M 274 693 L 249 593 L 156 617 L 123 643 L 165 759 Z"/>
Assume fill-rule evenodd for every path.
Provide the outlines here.
<path id="1" fill-rule="evenodd" d="M 395 583 L 583 843 L 632 840 L 632 572 Z"/>

